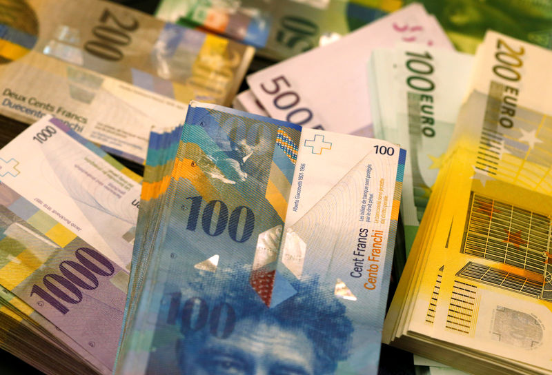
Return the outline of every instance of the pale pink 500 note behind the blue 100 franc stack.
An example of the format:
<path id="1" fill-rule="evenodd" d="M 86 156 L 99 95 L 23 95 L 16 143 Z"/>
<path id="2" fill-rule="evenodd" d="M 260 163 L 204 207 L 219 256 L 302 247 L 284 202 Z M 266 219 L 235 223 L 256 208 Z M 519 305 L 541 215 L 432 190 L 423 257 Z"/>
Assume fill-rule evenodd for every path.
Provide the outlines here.
<path id="1" fill-rule="evenodd" d="M 305 126 L 373 136 L 366 63 L 374 48 L 399 41 L 453 48 L 437 21 L 413 4 L 322 48 L 250 74 L 266 112 Z"/>

